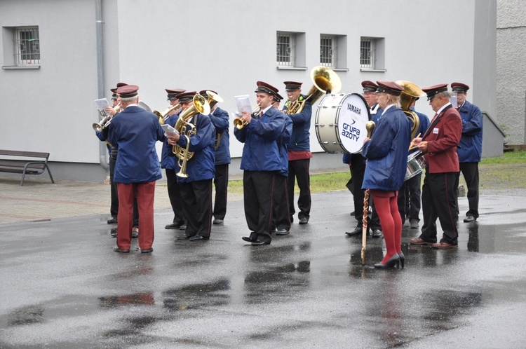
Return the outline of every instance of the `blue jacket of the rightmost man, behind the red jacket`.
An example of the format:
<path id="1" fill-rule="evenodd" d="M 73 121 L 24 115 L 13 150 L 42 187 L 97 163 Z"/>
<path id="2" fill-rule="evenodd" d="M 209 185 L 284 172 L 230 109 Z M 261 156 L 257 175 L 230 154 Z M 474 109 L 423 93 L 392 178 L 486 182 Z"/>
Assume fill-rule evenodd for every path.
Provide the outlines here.
<path id="1" fill-rule="evenodd" d="M 462 137 L 457 148 L 459 163 L 478 163 L 482 157 L 482 113 L 475 104 L 464 101 L 459 114 L 462 118 Z"/>

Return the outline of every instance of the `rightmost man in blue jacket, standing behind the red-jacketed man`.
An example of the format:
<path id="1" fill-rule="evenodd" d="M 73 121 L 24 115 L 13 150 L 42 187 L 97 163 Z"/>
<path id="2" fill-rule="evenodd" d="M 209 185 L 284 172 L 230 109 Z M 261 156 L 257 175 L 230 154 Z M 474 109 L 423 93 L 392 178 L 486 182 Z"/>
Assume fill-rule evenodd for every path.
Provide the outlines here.
<path id="1" fill-rule="evenodd" d="M 469 86 L 465 83 L 452 83 L 451 89 L 457 93 L 457 109 L 462 118 L 462 137 L 457 154 L 459 154 L 460 171 L 454 182 L 454 193 L 458 194 L 460 172 L 464 175 L 468 187 L 469 210 L 466 212 L 466 223 L 478 218 L 478 163 L 482 157 L 483 116 L 475 104 L 466 100 Z M 459 204 L 457 198 L 457 213 Z"/>

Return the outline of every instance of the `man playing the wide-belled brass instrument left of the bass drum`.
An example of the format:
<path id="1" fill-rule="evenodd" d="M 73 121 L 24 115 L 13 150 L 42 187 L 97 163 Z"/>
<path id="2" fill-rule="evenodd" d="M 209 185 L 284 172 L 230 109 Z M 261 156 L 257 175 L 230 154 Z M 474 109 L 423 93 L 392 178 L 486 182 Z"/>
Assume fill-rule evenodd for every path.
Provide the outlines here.
<path id="1" fill-rule="evenodd" d="M 285 92 L 288 100 L 285 102 L 283 112 L 292 121 L 292 135 L 288 145 L 288 201 L 290 221 L 294 221 L 294 187 L 297 179 L 299 186 L 299 197 L 297 199 L 299 224 L 309 223 L 311 213 L 311 184 L 309 176 L 309 165 L 312 158 L 310 146 L 310 128 L 312 105 L 309 100 L 305 101 L 302 111 L 298 114 L 287 114 L 292 103 L 306 99 L 302 95 L 302 83 L 297 81 L 284 81 Z"/>

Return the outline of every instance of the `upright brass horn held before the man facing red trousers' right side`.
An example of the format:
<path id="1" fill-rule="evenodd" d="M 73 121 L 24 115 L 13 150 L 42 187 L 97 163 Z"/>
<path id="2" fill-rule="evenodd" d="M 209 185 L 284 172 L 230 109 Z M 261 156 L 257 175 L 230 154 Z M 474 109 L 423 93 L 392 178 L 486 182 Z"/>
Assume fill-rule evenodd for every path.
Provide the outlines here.
<path id="1" fill-rule="evenodd" d="M 190 137 L 196 134 L 196 126 L 188 121 L 196 114 L 210 114 L 210 105 L 206 102 L 205 97 L 195 95 L 193 102 L 194 105 L 183 111 L 175 123 L 175 130 L 179 132 L 180 137 L 187 138 L 187 147 L 182 148 L 182 146 L 175 144 L 172 148 L 172 152 L 179 158 L 179 165 L 181 167 L 181 170 L 177 172 L 176 175 L 184 178 L 188 177 L 187 162 L 194 156 L 194 152 L 189 151 Z"/>

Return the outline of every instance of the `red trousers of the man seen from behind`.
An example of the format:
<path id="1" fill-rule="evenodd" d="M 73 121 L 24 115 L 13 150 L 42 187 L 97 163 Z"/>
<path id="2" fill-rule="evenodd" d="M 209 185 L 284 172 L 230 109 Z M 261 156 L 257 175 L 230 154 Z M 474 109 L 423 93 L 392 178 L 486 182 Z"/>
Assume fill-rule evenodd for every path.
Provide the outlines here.
<path id="1" fill-rule="evenodd" d="M 154 243 L 155 181 L 149 183 L 117 183 L 119 214 L 117 215 L 117 247 L 130 249 L 133 226 L 133 196 L 137 193 L 139 210 L 139 247 L 149 249 Z"/>

